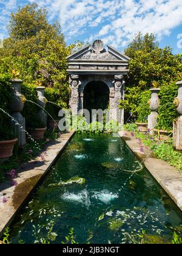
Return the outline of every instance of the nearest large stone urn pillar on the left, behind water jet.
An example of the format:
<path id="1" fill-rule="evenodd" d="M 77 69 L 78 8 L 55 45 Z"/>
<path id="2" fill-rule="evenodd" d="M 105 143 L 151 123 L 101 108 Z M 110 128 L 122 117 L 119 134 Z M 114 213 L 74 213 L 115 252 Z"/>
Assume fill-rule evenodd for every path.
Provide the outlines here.
<path id="1" fill-rule="evenodd" d="M 12 116 L 16 119 L 16 121 L 22 126 L 16 126 L 14 122 L 13 124 L 13 132 L 15 137 L 18 138 L 19 147 L 24 147 L 26 144 L 26 135 L 25 135 L 25 118 L 21 115 L 21 111 L 24 108 L 25 97 L 21 94 L 21 79 L 12 79 L 12 89 L 13 89 L 13 98 L 10 102 L 10 110 L 13 112 Z"/>

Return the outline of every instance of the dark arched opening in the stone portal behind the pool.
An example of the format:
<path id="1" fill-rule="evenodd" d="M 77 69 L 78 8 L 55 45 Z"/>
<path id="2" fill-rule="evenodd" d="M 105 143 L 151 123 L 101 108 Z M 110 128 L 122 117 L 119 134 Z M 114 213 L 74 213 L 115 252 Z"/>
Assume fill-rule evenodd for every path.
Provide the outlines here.
<path id="1" fill-rule="evenodd" d="M 109 107 L 109 88 L 104 82 L 93 81 L 84 88 L 84 108 L 105 110 Z"/>

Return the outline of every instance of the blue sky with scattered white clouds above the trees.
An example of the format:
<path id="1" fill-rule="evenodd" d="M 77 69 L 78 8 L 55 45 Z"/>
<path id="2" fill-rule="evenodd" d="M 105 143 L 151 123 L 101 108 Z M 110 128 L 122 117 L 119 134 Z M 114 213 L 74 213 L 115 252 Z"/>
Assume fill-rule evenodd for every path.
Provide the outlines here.
<path id="1" fill-rule="evenodd" d="M 182 53 L 182 0 L 0 0 L 0 39 L 7 37 L 9 15 L 37 2 L 58 20 L 67 44 L 102 39 L 120 51 L 141 31 L 154 32 L 161 48 Z"/>

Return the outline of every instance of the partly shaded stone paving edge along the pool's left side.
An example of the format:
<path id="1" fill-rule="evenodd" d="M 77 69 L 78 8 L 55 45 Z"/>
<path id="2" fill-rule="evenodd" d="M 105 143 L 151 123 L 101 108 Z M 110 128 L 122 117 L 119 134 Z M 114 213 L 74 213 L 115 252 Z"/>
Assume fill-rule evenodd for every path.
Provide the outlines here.
<path id="1" fill-rule="evenodd" d="M 41 155 L 39 155 L 34 160 L 22 164 L 16 170 L 17 175 L 13 179 L 17 182 L 16 186 L 12 186 L 12 180 L 0 184 L 0 238 L 5 227 L 10 226 L 13 222 L 19 210 L 49 172 L 74 134 L 75 131 L 62 133 L 58 140 L 47 143 L 45 160 L 42 160 Z M 3 197 L 7 199 L 7 202 L 2 202 Z"/>

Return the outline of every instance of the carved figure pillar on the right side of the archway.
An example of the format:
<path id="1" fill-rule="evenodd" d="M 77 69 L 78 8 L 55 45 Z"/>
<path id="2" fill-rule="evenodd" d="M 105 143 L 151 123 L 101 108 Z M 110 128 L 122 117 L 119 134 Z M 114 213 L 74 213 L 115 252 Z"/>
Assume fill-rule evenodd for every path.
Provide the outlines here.
<path id="1" fill-rule="evenodd" d="M 115 85 L 115 96 L 113 98 L 112 104 L 112 119 L 118 121 L 123 124 L 124 122 L 124 110 L 120 110 L 119 105 L 120 101 L 124 99 L 124 76 L 116 75 L 115 80 L 113 80 L 113 84 Z"/>

